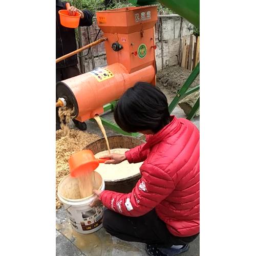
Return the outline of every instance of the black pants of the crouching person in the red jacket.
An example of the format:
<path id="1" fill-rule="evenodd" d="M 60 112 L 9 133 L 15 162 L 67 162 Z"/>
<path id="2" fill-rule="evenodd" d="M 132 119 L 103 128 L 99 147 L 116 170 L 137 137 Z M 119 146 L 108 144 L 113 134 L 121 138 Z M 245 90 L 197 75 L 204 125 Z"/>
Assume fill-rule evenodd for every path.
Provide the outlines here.
<path id="1" fill-rule="evenodd" d="M 141 242 L 157 247 L 185 245 L 198 236 L 176 237 L 169 232 L 159 219 L 155 209 L 140 217 L 127 217 L 106 209 L 103 214 L 103 227 L 112 236 L 130 242 Z"/>

